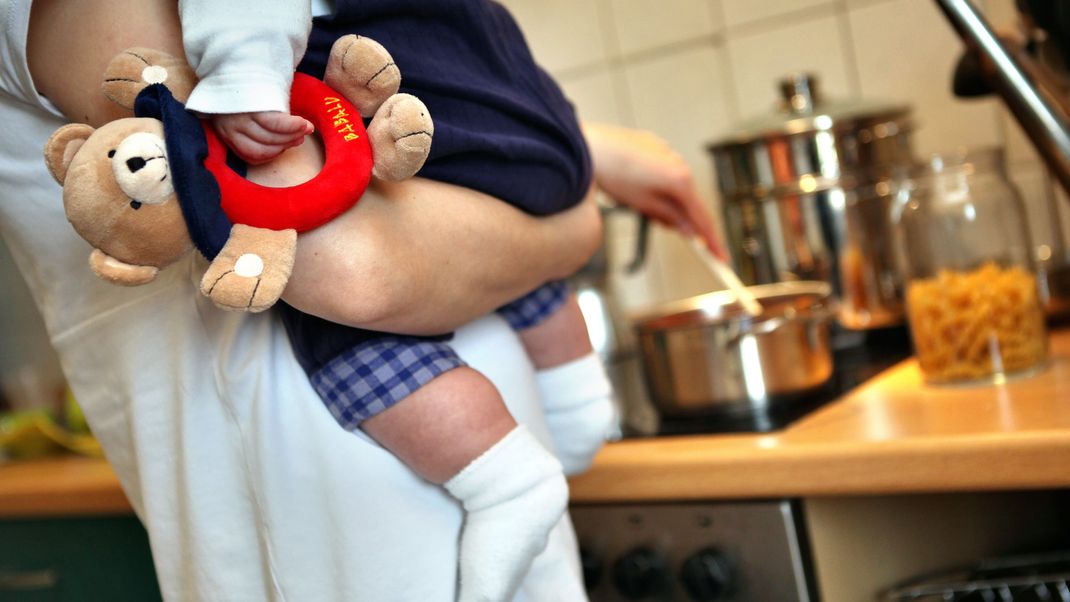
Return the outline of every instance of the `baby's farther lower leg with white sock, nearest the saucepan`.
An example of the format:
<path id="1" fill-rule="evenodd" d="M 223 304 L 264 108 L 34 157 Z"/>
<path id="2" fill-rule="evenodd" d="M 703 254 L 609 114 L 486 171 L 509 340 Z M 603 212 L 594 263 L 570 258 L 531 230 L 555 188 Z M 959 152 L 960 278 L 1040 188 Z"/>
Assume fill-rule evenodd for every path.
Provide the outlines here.
<path id="1" fill-rule="evenodd" d="M 503 310 L 507 319 L 508 307 Z M 568 294 L 561 308 L 518 334 L 537 370 L 557 458 L 566 475 L 582 473 L 618 427 L 613 389 L 601 358 L 592 351 L 576 295 Z"/>

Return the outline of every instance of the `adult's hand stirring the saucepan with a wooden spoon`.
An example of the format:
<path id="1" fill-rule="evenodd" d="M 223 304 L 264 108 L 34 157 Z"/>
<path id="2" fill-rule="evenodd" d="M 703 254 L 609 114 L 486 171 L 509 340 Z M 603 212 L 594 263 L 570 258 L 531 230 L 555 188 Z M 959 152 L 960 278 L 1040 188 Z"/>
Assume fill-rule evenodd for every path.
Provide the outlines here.
<path id="1" fill-rule="evenodd" d="M 595 183 L 602 191 L 686 236 L 699 236 L 716 256 L 728 258 L 691 169 L 664 140 L 651 132 L 600 123 L 583 124 L 583 133 Z"/>

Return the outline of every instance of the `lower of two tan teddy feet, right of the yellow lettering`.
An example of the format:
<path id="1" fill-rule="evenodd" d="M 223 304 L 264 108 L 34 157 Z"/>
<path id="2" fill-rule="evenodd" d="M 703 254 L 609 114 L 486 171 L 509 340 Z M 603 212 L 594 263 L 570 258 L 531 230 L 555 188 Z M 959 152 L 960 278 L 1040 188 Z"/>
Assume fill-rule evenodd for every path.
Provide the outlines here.
<path id="1" fill-rule="evenodd" d="M 424 167 L 431 151 L 434 122 L 419 98 L 411 94 L 391 96 L 368 125 L 372 156 L 371 173 L 381 180 L 412 177 Z"/>

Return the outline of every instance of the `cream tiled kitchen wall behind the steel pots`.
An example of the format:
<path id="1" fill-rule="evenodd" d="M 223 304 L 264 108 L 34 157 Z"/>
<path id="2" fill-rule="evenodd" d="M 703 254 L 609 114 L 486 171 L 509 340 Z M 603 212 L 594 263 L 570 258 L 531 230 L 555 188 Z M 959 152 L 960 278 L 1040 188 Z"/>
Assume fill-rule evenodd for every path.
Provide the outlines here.
<path id="1" fill-rule="evenodd" d="M 1050 243 L 1049 179 L 998 99 L 950 93 L 961 43 L 932 0 L 504 0 L 536 59 L 562 83 L 581 118 L 651 129 L 690 164 L 718 212 L 706 142 L 744 118 L 770 111 L 776 81 L 806 71 L 826 97 L 905 102 L 915 108 L 919 156 L 957 146 L 1006 146 L 1035 238 Z M 988 0 L 997 26 L 1013 0 Z M 1064 203 L 1063 209 L 1070 209 Z M 630 258 L 629 218 L 608 226 L 616 266 Z M 659 231 L 647 268 L 617 274 L 627 307 L 717 287 L 678 237 Z"/>

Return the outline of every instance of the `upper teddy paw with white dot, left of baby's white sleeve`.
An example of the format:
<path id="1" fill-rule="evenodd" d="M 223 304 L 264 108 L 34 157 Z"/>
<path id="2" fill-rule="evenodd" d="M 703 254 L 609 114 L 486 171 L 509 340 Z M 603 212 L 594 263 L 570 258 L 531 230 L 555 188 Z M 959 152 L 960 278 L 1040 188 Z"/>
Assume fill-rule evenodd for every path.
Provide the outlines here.
<path id="1" fill-rule="evenodd" d="M 127 48 L 104 70 L 104 95 L 131 110 L 138 93 L 153 83 L 163 83 L 180 103 L 185 103 L 197 83 L 197 74 L 184 60 L 152 48 Z"/>

